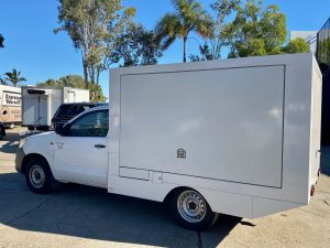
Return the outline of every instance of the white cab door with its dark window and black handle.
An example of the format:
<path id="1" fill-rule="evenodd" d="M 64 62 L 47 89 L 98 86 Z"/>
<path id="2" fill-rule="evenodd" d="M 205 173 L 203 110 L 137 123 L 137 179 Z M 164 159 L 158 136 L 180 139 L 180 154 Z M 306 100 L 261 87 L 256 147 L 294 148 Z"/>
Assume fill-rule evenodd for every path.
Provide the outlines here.
<path id="1" fill-rule="evenodd" d="M 107 187 L 109 110 L 95 110 L 65 126 L 55 138 L 58 180 Z"/>

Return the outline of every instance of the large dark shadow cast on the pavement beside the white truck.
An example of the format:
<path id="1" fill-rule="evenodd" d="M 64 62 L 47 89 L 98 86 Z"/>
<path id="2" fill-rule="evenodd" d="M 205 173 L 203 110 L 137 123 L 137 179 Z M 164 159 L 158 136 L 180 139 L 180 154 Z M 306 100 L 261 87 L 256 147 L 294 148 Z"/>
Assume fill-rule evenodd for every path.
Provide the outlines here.
<path id="1" fill-rule="evenodd" d="M 24 176 L 0 174 L 0 223 L 20 230 L 161 247 L 217 247 L 240 223 L 220 216 L 207 231 L 184 229 L 161 203 L 68 184 L 48 194 L 31 193 Z"/>

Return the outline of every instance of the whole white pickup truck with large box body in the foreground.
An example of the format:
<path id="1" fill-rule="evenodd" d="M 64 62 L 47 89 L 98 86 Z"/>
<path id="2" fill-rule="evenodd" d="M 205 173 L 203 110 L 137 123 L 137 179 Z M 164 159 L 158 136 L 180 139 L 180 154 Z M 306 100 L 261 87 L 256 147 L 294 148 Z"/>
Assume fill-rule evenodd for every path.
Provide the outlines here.
<path id="1" fill-rule="evenodd" d="M 107 107 L 29 137 L 16 170 L 169 203 L 185 227 L 307 205 L 320 165 L 321 73 L 312 54 L 110 72 Z"/>

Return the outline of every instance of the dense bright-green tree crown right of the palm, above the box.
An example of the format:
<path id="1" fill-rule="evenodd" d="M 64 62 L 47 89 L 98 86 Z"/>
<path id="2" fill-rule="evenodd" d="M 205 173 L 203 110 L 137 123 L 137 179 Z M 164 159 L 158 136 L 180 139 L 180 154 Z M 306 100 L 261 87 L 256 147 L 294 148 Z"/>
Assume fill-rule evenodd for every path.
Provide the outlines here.
<path id="1" fill-rule="evenodd" d="M 235 7 L 235 18 L 223 35 L 231 47 L 229 57 L 282 53 L 286 40 L 286 17 L 276 4 L 263 7 L 262 0 L 246 0 Z"/>

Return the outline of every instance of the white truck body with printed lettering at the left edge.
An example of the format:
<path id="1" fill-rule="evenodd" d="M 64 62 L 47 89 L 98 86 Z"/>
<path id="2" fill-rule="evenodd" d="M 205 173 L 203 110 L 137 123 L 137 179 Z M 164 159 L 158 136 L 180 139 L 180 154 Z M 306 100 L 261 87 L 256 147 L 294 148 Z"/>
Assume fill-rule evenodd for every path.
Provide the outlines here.
<path id="1" fill-rule="evenodd" d="M 21 88 L 0 85 L 0 121 L 4 126 L 13 127 L 22 121 L 21 117 Z"/>

